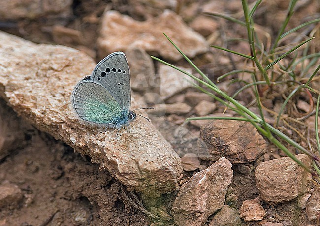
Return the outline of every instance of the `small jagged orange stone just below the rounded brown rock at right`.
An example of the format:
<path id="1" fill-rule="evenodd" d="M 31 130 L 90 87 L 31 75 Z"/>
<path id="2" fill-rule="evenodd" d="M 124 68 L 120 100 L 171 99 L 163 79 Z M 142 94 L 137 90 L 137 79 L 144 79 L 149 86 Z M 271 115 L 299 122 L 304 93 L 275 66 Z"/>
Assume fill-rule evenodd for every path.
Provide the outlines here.
<path id="1" fill-rule="evenodd" d="M 264 209 L 260 204 L 260 198 L 253 200 L 245 200 L 239 210 L 240 217 L 244 221 L 260 221 L 266 215 Z"/>

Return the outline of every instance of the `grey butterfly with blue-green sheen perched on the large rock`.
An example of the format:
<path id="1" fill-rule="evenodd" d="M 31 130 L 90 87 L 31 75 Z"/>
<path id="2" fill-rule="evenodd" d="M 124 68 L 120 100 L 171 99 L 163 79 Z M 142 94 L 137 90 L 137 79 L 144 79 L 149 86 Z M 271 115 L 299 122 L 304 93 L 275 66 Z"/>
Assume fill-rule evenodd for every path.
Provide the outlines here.
<path id="1" fill-rule="evenodd" d="M 124 126 L 128 127 L 136 115 L 139 115 L 136 110 L 154 109 L 138 108 L 130 111 L 130 71 L 123 52 L 106 56 L 90 76 L 80 80 L 71 94 L 71 104 L 81 121 L 119 130 Z"/>

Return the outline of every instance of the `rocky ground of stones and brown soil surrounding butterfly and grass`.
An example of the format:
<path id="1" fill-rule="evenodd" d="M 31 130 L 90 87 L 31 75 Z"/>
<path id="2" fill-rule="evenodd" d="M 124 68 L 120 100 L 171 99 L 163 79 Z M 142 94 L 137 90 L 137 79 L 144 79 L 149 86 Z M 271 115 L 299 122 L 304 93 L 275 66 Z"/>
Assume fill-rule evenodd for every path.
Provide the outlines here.
<path id="1" fill-rule="evenodd" d="M 264 1 L 257 9 L 266 43 L 288 4 Z M 298 1 L 289 28 L 319 18 L 319 9 L 316 0 Z M 246 30 L 202 12 L 243 19 L 238 0 L 0 2 L 0 226 L 319 225 L 319 184 L 250 123 L 185 123 L 235 114 L 150 58 L 195 73 L 163 32 L 214 82 L 248 64 L 209 47 L 248 54 L 239 39 Z M 310 32 L 316 37 L 310 51 L 317 53 L 319 25 L 297 36 Z M 131 108 L 155 108 L 140 112 L 151 122 L 137 118 L 118 139 L 115 130 L 80 124 L 70 107 L 77 81 L 113 51 L 128 58 Z M 234 78 L 217 85 L 233 95 L 244 85 Z M 319 90 L 318 77 L 311 87 Z M 288 94 L 285 84 L 261 97 L 268 123 Z M 279 127 L 308 149 L 315 144 L 315 97 L 296 95 L 286 114 L 298 122 Z M 236 98 L 258 113 L 252 90 Z M 285 145 L 312 168 L 307 155 Z"/>

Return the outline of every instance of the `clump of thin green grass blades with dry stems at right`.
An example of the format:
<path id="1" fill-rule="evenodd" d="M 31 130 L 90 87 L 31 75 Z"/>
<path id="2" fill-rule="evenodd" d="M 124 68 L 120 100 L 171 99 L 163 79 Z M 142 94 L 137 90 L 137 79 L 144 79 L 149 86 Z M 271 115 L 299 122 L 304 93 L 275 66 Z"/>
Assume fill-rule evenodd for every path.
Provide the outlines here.
<path id="1" fill-rule="evenodd" d="M 283 46 L 279 45 L 279 43 L 282 40 L 284 40 L 284 38 L 287 37 L 289 34 L 296 32 L 299 29 L 304 28 L 310 24 L 318 23 L 320 22 L 320 19 L 308 21 L 306 23 L 303 23 L 289 30 L 288 32 L 284 32 L 290 18 L 294 13 L 294 6 L 297 2 L 297 0 L 291 0 L 288 7 L 287 17 L 284 20 L 272 45 L 270 45 L 270 49 L 266 50 L 263 48 L 263 45 L 257 38 L 257 34 L 255 32 L 255 24 L 253 20 L 253 15 L 257 7 L 261 3 L 261 1 L 262 0 L 257 0 L 254 3 L 253 7 L 249 9 L 247 0 L 242 0 L 245 21 L 242 21 L 230 16 L 218 14 L 218 13 L 206 13 L 207 15 L 218 16 L 226 20 L 229 20 L 231 22 L 235 22 L 237 24 L 244 26 L 247 29 L 248 44 L 250 45 L 250 55 L 232 51 L 230 49 L 222 48 L 219 46 L 211 46 L 216 49 L 220 49 L 232 54 L 239 55 L 245 58 L 246 60 L 249 60 L 254 63 L 250 69 L 244 68 L 241 70 L 233 70 L 218 78 L 218 81 L 219 81 L 221 79 L 224 79 L 228 75 L 236 74 L 239 72 L 245 72 L 245 73 L 251 74 L 252 82 L 243 86 L 232 97 L 230 97 L 229 95 L 224 93 L 222 90 L 220 90 L 218 86 L 213 81 L 211 81 L 196 65 L 194 65 L 192 61 L 180 50 L 180 48 L 176 46 L 176 44 L 165 34 L 164 35 L 171 42 L 171 44 L 180 52 L 180 54 L 195 69 L 195 71 L 200 74 L 200 78 L 174 65 L 171 65 L 165 61 L 162 61 L 159 58 L 156 58 L 154 56 L 152 56 L 152 58 L 188 75 L 189 77 L 194 79 L 196 82 L 198 82 L 199 85 L 194 84 L 196 88 L 208 94 L 209 96 L 213 97 L 214 99 L 222 103 L 227 109 L 234 111 L 240 116 L 240 117 L 195 117 L 195 118 L 188 118 L 187 121 L 200 120 L 200 119 L 228 119 L 228 120 L 248 121 L 254 127 L 256 127 L 256 129 L 260 132 L 260 134 L 265 136 L 270 142 L 275 144 L 279 149 L 284 151 L 290 158 L 292 158 L 299 165 L 301 165 L 308 172 L 310 172 L 314 176 L 315 180 L 320 181 L 320 158 L 319 158 L 320 142 L 318 137 L 318 109 L 319 109 L 319 102 L 320 102 L 320 94 L 319 94 L 319 91 L 317 92 L 312 87 L 310 87 L 310 82 L 316 76 L 316 74 L 320 69 L 320 53 L 308 55 L 309 42 L 313 39 L 313 37 L 306 38 L 304 41 L 301 41 L 300 43 L 295 44 L 292 48 L 290 48 L 287 51 L 281 50 L 286 48 L 283 48 Z M 298 54 L 299 48 L 301 46 L 305 47 L 302 53 L 302 56 L 301 54 Z M 281 61 L 291 53 L 295 53 L 295 57 L 290 59 L 288 64 L 282 63 Z M 295 67 L 297 67 L 298 64 L 304 63 L 306 59 L 308 59 L 309 63 L 307 65 L 303 65 L 301 67 L 300 75 L 297 75 L 294 72 Z M 309 73 L 311 68 L 314 68 L 312 74 Z M 284 78 L 285 74 L 288 75 L 287 77 L 289 77 L 289 79 Z M 261 95 L 263 95 L 265 91 L 271 91 L 272 88 L 281 84 L 287 84 L 287 86 L 289 86 L 292 89 L 292 91 L 288 95 L 288 97 L 285 99 L 284 103 L 282 104 L 280 108 L 280 112 L 278 113 L 278 116 L 277 116 L 277 121 L 275 125 L 272 126 L 265 121 L 265 116 L 263 115 L 263 111 L 262 111 L 263 105 L 261 103 Z M 247 107 L 245 107 L 235 99 L 235 97 L 239 93 L 241 93 L 243 90 L 248 89 L 250 87 L 253 88 L 253 91 L 256 97 L 256 103 L 260 113 L 259 115 L 250 111 Z M 317 149 L 318 149 L 317 155 L 314 154 L 312 147 L 310 148 L 310 150 L 307 150 L 306 148 L 298 144 L 295 140 L 291 139 L 286 134 L 284 134 L 279 129 L 277 129 L 280 120 L 284 120 L 284 118 L 282 117 L 282 114 L 289 100 L 301 90 L 305 91 L 309 95 L 312 104 L 313 104 L 312 93 L 318 94 L 318 101 L 317 101 L 317 107 L 316 107 L 316 120 L 315 120 L 316 143 L 317 143 Z M 230 105 L 230 103 L 232 103 L 232 106 Z M 295 147 L 296 149 L 300 150 L 301 152 L 311 157 L 313 160 L 313 167 L 316 173 L 310 168 L 308 168 L 308 166 L 306 166 L 303 162 L 299 161 L 295 157 L 295 155 L 293 155 L 288 150 L 288 148 L 282 143 L 282 141 L 287 142 L 289 145 Z"/>

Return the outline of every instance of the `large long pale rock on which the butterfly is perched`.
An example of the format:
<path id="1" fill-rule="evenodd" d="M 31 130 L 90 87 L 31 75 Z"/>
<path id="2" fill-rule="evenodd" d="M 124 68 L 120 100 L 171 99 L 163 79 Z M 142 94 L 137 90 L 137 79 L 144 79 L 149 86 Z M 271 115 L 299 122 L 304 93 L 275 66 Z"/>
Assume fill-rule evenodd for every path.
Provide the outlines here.
<path id="1" fill-rule="evenodd" d="M 91 74 L 87 55 L 34 44 L 0 32 L 0 97 L 37 129 L 61 139 L 131 189 L 157 196 L 176 189 L 179 156 L 152 124 L 137 118 L 131 133 L 80 124 L 70 106 L 74 85 Z M 132 102 L 132 108 L 143 107 Z M 144 114 L 142 112 L 142 114 Z"/>

